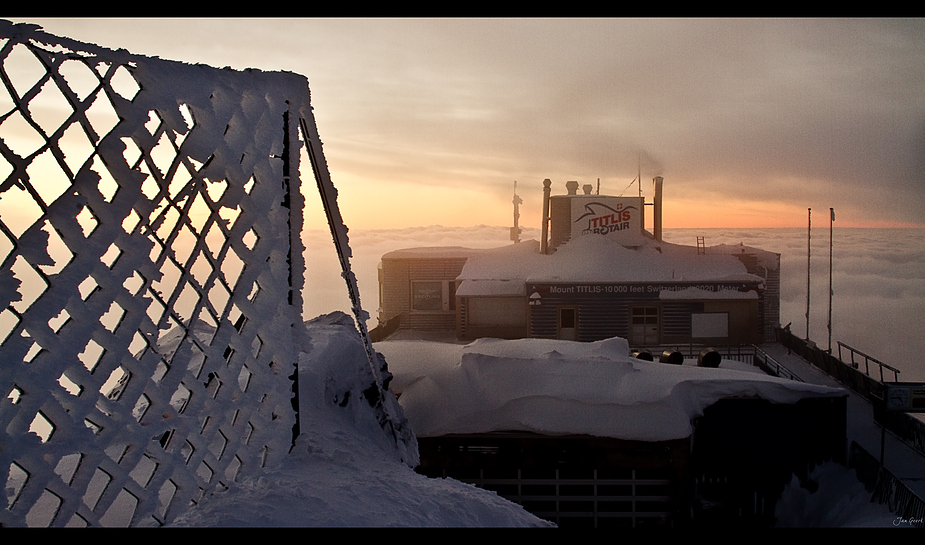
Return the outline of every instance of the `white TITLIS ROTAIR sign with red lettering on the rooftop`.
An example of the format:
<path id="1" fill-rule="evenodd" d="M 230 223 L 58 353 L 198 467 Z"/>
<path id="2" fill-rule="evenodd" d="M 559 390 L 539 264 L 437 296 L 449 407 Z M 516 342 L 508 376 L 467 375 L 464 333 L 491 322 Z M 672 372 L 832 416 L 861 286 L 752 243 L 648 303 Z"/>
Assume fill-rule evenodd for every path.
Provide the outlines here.
<path id="1" fill-rule="evenodd" d="M 606 236 L 617 242 L 632 242 L 642 233 L 643 199 L 639 197 L 572 197 L 571 238 L 581 235 Z"/>

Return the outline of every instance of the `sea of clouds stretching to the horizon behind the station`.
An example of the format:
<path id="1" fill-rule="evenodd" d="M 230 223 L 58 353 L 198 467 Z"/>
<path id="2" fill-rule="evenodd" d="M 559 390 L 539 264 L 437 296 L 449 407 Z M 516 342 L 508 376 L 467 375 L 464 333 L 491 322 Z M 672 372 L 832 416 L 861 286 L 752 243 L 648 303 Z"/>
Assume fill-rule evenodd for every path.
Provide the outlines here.
<path id="1" fill-rule="evenodd" d="M 351 266 L 370 328 L 379 306 L 379 259 L 401 248 L 464 246 L 491 248 L 510 244 L 508 227 L 428 226 L 351 230 Z M 695 245 L 738 244 L 781 254 L 781 325 L 806 335 L 807 229 L 665 229 L 668 242 Z M 306 230 L 306 319 L 333 310 L 349 310 L 337 255 L 326 231 Z M 539 229 L 521 237 L 539 239 Z M 811 233 L 809 337 L 828 347 L 829 227 Z M 832 346 L 837 341 L 899 368 L 899 380 L 925 381 L 925 229 L 835 228 L 832 233 Z M 848 358 L 847 353 L 844 356 Z M 863 363 L 862 363 L 863 366 Z M 873 372 L 873 371 L 872 371 Z M 892 379 L 892 377 L 888 377 Z"/>

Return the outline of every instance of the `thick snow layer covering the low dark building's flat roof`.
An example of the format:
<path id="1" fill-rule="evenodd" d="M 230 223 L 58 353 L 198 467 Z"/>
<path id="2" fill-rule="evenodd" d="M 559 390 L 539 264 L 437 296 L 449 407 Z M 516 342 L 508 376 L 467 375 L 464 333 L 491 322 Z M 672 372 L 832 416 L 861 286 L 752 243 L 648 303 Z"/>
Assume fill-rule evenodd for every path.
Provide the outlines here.
<path id="1" fill-rule="evenodd" d="M 385 341 L 392 388 L 419 437 L 530 431 L 661 441 L 687 437 L 716 401 L 795 403 L 843 391 L 736 369 L 630 358 L 625 340 Z"/>

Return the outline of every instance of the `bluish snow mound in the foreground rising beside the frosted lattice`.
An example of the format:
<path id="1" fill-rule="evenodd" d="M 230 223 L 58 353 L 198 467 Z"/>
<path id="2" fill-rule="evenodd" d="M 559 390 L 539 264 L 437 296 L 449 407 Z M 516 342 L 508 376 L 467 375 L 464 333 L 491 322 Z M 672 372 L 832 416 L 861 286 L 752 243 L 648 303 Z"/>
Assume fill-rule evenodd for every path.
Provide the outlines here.
<path id="1" fill-rule="evenodd" d="M 174 525 L 551 525 L 494 492 L 414 473 L 417 441 L 394 394 L 375 398 L 353 321 L 337 312 L 305 326 L 301 434 L 292 451 L 281 464 L 207 496 Z M 388 385 L 388 371 L 380 371 Z"/>

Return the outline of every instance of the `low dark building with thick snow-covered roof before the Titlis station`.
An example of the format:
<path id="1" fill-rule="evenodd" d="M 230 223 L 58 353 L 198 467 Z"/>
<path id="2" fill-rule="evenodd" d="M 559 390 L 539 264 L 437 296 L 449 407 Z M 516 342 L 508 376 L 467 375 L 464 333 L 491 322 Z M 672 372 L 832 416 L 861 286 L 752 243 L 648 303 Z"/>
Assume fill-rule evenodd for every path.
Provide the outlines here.
<path id="1" fill-rule="evenodd" d="M 741 362 L 644 361 L 621 338 L 376 349 L 421 471 L 498 490 L 560 525 L 768 525 L 793 475 L 844 462 L 844 389 Z M 658 492 L 628 492 L 637 487 Z M 630 507 L 646 502 L 662 503 Z"/>

